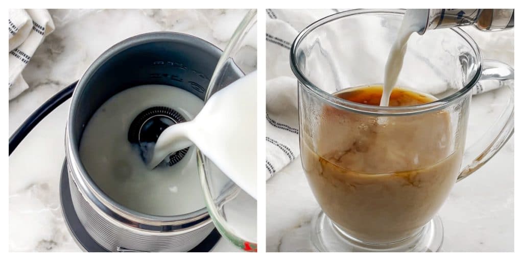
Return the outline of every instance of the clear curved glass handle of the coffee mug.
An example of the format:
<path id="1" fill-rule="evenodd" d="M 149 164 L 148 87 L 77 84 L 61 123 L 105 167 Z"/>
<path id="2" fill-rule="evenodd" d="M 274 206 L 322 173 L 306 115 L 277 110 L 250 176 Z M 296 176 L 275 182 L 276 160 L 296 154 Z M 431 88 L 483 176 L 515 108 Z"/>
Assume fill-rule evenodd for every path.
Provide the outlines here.
<path id="1" fill-rule="evenodd" d="M 514 68 L 502 62 L 484 60 L 483 72 L 478 84 L 481 84 L 484 80 L 494 81 L 495 84 L 508 88 L 510 90 L 510 98 L 496 122 L 477 143 L 465 149 L 462 165 L 467 165 L 462 167 L 457 181 L 464 179 L 481 168 L 514 134 Z"/>

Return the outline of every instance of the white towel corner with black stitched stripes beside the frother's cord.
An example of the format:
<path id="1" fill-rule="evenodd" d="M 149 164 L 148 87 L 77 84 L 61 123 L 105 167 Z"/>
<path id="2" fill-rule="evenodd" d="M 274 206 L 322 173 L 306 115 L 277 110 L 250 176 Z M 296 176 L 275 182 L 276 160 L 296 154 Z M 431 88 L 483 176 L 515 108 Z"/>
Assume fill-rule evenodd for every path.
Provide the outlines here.
<path id="1" fill-rule="evenodd" d="M 9 100 L 29 88 L 22 70 L 53 30 L 54 23 L 46 9 L 9 9 Z"/>

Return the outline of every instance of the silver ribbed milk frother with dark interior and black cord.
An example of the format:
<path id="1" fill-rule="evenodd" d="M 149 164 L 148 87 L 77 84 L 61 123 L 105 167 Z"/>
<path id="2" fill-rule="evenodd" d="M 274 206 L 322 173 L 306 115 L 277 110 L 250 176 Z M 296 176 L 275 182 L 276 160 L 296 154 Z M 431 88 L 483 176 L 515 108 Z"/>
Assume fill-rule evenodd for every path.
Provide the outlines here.
<path id="1" fill-rule="evenodd" d="M 184 215 L 154 216 L 112 200 L 90 178 L 78 149 L 90 117 L 101 104 L 127 88 L 144 84 L 175 86 L 173 88 L 184 89 L 203 100 L 221 54 L 211 43 L 182 33 L 154 32 L 131 37 L 101 54 L 77 83 L 44 103 L 10 137 L 9 154 L 43 117 L 71 97 L 74 90 L 66 126 L 66 163 L 60 194 L 64 219 L 83 250 L 209 251 L 218 241 L 219 234 L 205 207 Z M 231 70 L 228 77 L 237 79 L 241 75 L 241 70 Z M 151 112 L 165 112 L 163 116 L 172 118 L 173 123 L 185 121 L 169 108 L 151 109 Z M 151 112 L 142 114 L 158 116 L 157 113 L 149 115 Z M 139 118 L 142 117 L 138 115 L 137 120 Z M 140 126 L 144 126 L 143 122 Z M 147 132 L 154 131 L 154 124 L 148 126 L 153 127 L 139 128 L 136 135 L 137 130 L 131 129 L 129 141 L 151 136 Z M 176 157 L 172 158 L 173 164 Z"/>

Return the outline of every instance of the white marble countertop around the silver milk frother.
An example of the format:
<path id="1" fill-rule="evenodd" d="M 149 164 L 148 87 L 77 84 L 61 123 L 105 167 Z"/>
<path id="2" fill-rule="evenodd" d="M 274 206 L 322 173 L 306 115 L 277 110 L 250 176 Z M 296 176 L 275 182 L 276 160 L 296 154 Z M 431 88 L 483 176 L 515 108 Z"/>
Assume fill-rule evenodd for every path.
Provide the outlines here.
<path id="1" fill-rule="evenodd" d="M 9 135 L 38 106 L 76 81 L 98 55 L 133 35 L 177 31 L 223 49 L 245 10 L 50 10 L 56 25 L 23 75 L 30 89 L 9 102 Z M 69 101 L 9 157 L 9 251 L 81 251 L 64 223 L 59 179 Z M 213 251 L 233 252 L 223 238 Z"/>

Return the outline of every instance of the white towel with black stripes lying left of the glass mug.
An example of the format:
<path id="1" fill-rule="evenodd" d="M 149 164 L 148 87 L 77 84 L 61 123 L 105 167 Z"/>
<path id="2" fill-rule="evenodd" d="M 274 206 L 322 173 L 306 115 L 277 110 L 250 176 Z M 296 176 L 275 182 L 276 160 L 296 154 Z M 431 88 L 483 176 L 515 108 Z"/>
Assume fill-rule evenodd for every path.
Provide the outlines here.
<path id="1" fill-rule="evenodd" d="M 289 50 L 298 32 L 311 22 L 335 13 L 325 10 L 267 12 L 266 179 L 300 156 L 297 80 L 289 65 Z"/>

